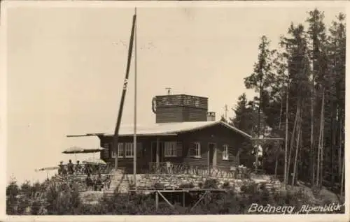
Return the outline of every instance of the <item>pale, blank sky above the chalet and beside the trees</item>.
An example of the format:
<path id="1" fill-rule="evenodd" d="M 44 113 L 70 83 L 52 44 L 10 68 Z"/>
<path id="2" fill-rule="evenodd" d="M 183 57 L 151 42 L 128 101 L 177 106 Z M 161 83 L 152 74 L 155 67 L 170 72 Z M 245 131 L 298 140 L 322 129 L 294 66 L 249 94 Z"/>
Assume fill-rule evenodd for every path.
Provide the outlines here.
<path id="1" fill-rule="evenodd" d="M 252 98 L 243 78 L 252 72 L 260 37 L 265 34 L 276 47 L 290 22 L 303 22 L 311 9 L 139 8 L 138 124 L 155 121 L 151 99 L 166 94 L 165 87 L 173 94 L 209 97 L 209 111 L 217 118 L 240 94 Z M 326 24 L 344 12 L 319 9 Z M 34 169 L 74 159 L 61 154 L 64 149 L 99 146 L 97 138 L 67 134 L 113 131 L 133 13 L 133 8 L 8 9 L 8 179 L 43 178 Z M 122 124 L 133 123 L 133 99 L 134 61 Z"/>

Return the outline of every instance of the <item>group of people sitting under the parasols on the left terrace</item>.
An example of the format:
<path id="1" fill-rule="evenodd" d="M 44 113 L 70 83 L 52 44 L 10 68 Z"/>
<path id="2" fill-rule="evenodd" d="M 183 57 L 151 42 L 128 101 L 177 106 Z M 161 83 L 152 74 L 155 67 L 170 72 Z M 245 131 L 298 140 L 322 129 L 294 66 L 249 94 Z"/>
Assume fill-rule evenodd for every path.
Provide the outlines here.
<path id="1" fill-rule="evenodd" d="M 71 160 L 66 165 L 61 161 L 58 165 L 58 175 L 92 174 L 99 173 L 99 171 L 99 165 L 80 164 L 80 161 L 76 161 L 75 165 Z"/>

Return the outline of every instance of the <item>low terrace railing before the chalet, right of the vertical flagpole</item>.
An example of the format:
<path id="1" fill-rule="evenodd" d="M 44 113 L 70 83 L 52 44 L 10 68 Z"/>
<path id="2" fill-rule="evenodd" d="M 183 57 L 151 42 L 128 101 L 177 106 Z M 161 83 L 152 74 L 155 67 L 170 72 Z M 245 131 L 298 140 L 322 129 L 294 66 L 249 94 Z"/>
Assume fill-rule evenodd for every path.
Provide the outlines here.
<path id="1" fill-rule="evenodd" d="M 228 177 L 228 178 L 249 178 L 250 170 L 240 170 L 239 168 L 219 168 L 208 165 L 193 165 L 187 163 L 149 163 L 149 174 L 173 174 L 173 175 L 197 175 L 206 177 Z"/>

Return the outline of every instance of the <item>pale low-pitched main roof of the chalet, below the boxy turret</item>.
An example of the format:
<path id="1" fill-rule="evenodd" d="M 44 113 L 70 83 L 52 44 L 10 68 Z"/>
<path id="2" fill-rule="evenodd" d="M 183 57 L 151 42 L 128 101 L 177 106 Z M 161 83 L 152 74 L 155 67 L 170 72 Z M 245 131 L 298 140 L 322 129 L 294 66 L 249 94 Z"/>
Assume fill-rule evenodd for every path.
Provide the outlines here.
<path id="1" fill-rule="evenodd" d="M 179 133 L 186 133 L 190 131 L 197 131 L 210 126 L 222 125 L 229 128 L 236 133 L 244 135 L 247 138 L 251 138 L 251 135 L 240 131 L 235 126 L 226 124 L 223 121 L 188 121 L 188 122 L 176 122 L 176 123 L 164 123 L 164 124 L 148 124 L 147 126 L 137 126 L 137 135 L 177 135 Z M 67 135 L 68 137 L 78 136 L 112 136 L 114 133 L 87 133 L 85 135 Z M 134 126 L 120 126 L 119 136 L 131 136 L 134 135 Z"/>

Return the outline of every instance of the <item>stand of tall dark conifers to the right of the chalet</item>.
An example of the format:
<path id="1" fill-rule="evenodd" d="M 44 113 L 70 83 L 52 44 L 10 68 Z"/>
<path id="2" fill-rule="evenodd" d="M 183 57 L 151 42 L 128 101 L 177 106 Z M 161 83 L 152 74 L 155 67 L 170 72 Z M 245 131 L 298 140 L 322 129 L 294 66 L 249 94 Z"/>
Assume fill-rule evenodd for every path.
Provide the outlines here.
<path id="1" fill-rule="evenodd" d="M 262 37 L 253 74 L 244 79 L 246 88 L 258 96 L 252 101 L 239 98 L 232 123 L 253 137 L 271 127 L 270 135 L 286 138 L 283 145 L 264 142 L 264 146 L 269 147 L 267 162 L 274 163 L 275 174 L 284 147 L 288 157 L 284 162 L 292 169 L 286 168 L 286 175 L 294 171 L 292 184 L 296 179 L 314 183 L 318 177 L 318 187 L 331 181 L 344 188 L 345 15 L 339 14 L 330 29 L 323 17 L 315 9 L 308 12 L 307 29 L 292 23 L 277 53 Z M 253 120 L 244 120 L 248 113 Z"/>

